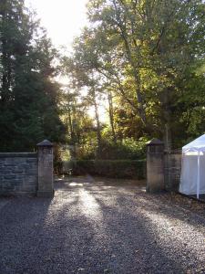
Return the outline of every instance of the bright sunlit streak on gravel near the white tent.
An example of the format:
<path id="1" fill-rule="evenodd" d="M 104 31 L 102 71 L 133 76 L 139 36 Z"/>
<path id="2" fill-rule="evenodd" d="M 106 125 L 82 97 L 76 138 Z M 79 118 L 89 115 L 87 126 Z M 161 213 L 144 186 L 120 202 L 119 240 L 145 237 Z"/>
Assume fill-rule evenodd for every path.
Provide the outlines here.
<path id="1" fill-rule="evenodd" d="M 142 196 L 138 196 L 136 202 L 138 202 L 138 206 L 135 207 L 133 216 L 137 214 L 144 219 L 145 227 L 148 227 L 150 235 L 154 236 L 156 244 L 160 248 L 165 251 L 168 247 L 171 249 L 180 248 L 181 252 L 187 249 L 193 258 L 200 249 L 205 256 L 205 242 L 202 240 L 205 229 L 202 229 L 201 232 L 200 223 L 191 223 L 189 210 L 178 208 L 177 205 L 174 205 L 174 207 L 176 206 L 174 208 L 173 205 L 158 203 L 156 200 Z M 165 209 L 167 213 L 169 211 L 169 214 L 164 212 Z M 186 234 L 184 234 L 185 230 Z M 193 239 L 194 244 L 191 241 Z M 179 242 L 180 246 L 178 245 Z"/>

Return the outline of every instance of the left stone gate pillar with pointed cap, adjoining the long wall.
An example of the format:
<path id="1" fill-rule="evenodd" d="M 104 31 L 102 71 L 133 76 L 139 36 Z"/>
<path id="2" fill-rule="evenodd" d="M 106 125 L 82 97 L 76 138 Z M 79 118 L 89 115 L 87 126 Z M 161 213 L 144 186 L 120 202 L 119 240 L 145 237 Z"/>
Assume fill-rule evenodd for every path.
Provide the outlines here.
<path id="1" fill-rule="evenodd" d="M 53 144 L 47 140 L 37 143 L 38 149 L 38 189 L 37 196 L 54 196 Z"/>

